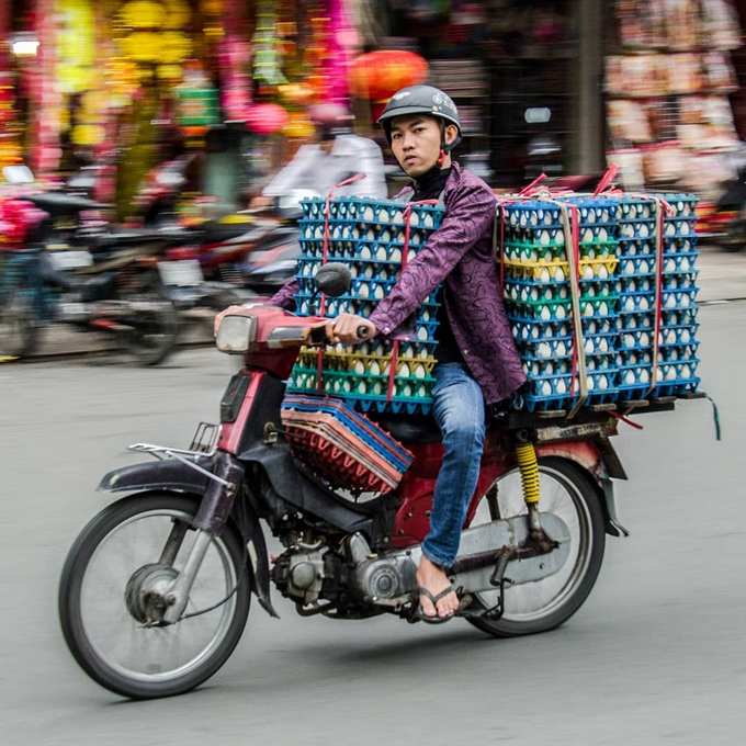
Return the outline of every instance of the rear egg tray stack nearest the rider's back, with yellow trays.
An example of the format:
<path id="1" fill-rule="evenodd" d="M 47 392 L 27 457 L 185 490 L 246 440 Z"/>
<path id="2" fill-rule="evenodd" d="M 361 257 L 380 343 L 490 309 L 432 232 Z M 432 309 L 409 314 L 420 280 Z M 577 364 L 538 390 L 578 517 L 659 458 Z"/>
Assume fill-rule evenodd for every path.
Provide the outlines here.
<path id="1" fill-rule="evenodd" d="M 618 203 L 608 197 L 562 197 L 577 207 L 580 316 L 588 397 L 615 399 L 619 296 Z M 528 382 L 513 405 L 528 411 L 570 408 L 579 395 L 565 228 L 561 206 L 521 200 L 505 206 L 505 299 Z"/>

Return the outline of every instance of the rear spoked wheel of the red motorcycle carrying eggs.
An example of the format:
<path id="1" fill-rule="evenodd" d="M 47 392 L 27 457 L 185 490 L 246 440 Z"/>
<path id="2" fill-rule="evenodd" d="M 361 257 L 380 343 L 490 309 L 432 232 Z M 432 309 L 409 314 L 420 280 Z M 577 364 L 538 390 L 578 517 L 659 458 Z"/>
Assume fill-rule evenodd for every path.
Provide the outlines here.
<path id="1" fill-rule="evenodd" d="M 506 586 L 505 611 L 499 620 L 468 617 L 468 621 L 496 637 L 513 637 L 552 630 L 567 621 L 588 598 L 603 561 L 606 530 L 601 506 L 594 485 L 581 468 L 563 459 L 540 459 L 542 512 L 560 517 L 570 535 L 570 550 L 562 569 L 536 583 Z M 487 495 L 482 498 L 472 525 L 487 523 L 493 517 Z M 499 518 L 525 515 L 518 470 L 497 482 Z M 506 570 L 510 577 L 510 564 Z M 498 591 L 476 594 L 485 609 L 498 602 Z"/>

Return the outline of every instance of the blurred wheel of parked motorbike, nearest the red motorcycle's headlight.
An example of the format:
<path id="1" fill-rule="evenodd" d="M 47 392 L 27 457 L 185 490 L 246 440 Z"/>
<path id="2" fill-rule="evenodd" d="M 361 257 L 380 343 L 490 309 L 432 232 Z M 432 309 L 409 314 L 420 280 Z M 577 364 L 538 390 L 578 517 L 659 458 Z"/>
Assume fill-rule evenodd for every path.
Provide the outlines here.
<path id="1" fill-rule="evenodd" d="M 125 334 L 125 346 L 139 365 L 159 365 L 176 349 L 179 312 L 155 278 L 144 282 L 136 301 L 149 302 L 155 308 L 147 315 L 139 312 L 131 319 L 133 329 Z"/>

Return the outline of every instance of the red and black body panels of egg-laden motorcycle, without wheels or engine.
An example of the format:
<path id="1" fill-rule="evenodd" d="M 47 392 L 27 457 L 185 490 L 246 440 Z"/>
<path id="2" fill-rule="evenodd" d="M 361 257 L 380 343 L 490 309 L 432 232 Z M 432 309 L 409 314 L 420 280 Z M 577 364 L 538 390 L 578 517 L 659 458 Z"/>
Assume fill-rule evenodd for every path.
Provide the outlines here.
<path id="1" fill-rule="evenodd" d="M 317 534 L 342 538 L 361 533 L 374 552 L 405 549 L 421 543 L 429 531 L 434 483 L 440 468 L 440 443 L 408 443 L 415 461 L 398 488 L 366 504 L 351 504 L 313 475 L 298 467 L 289 444 L 280 438 L 284 381 L 297 357 L 298 344 L 272 349 L 274 327 L 307 329 L 323 318 L 301 318 L 265 307 L 240 309 L 258 321 L 257 347 L 245 368 L 234 375 L 221 400 L 221 432 L 213 454 L 193 459 L 168 459 L 118 468 L 102 478 L 105 491 L 155 490 L 195 495 L 201 499 L 193 527 L 218 533 L 226 523 L 240 532 L 247 546 L 252 590 L 261 606 L 278 615 L 270 600 L 270 567 L 260 519 L 275 535 L 291 525 L 303 525 Z M 585 429 L 584 429 L 585 428 Z M 554 430 L 557 430 L 556 426 Z M 598 422 L 578 426 L 569 438 L 562 429 L 544 437 L 521 427 L 520 431 L 491 426 L 485 440 L 479 479 L 467 511 L 471 524 L 476 507 L 500 476 L 516 468 L 516 438 L 536 441 L 540 457 L 557 456 L 576 463 L 596 486 L 606 513 L 607 532 L 626 534 L 617 521 L 611 478 L 626 478 L 609 434 L 615 426 Z M 162 449 L 167 451 L 167 449 Z"/>

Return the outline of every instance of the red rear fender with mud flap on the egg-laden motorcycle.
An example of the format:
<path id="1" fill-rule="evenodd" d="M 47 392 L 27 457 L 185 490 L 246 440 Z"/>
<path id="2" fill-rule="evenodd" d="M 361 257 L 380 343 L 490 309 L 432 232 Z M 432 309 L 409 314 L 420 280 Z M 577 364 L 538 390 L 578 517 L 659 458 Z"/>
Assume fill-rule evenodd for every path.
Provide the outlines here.
<path id="1" fill-rule="evenodd" d="M 575 462 L 594 481 L 603 508 L 606 531 L 612 536 L 629 536 L 630 532 L 619 522 L 613 479 L 626 479 L 626 472 L 611 441 L 604 436 L 591 440 L 567 440 L 540 443 L 539 456 L 556 456 Z"/>

